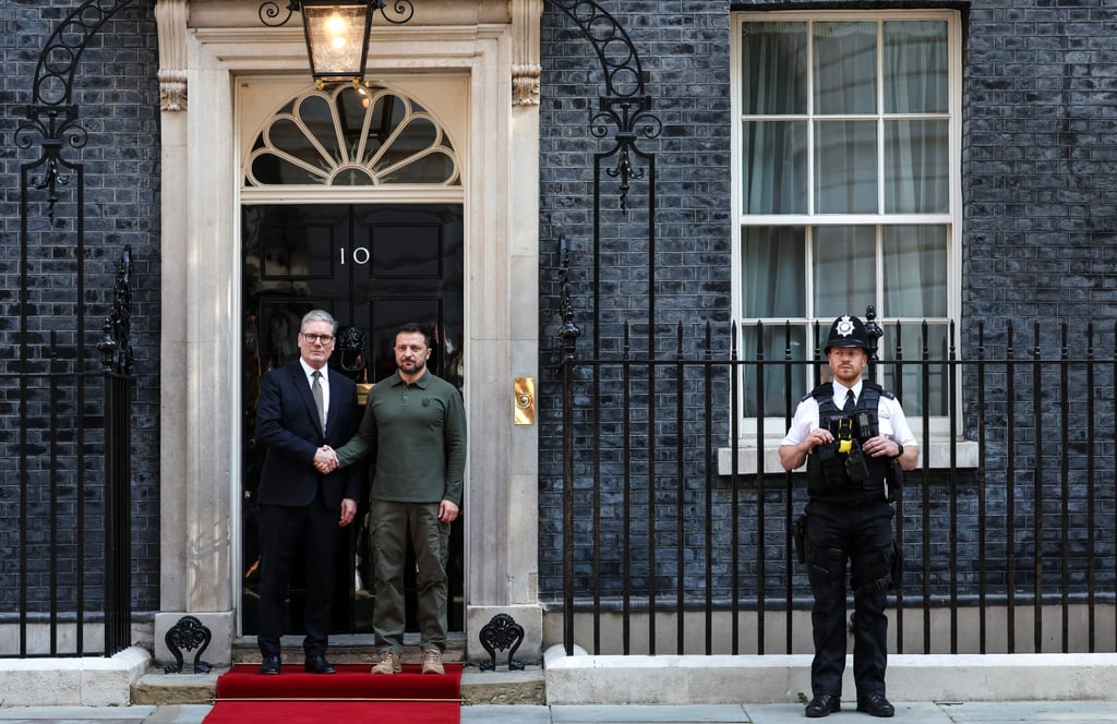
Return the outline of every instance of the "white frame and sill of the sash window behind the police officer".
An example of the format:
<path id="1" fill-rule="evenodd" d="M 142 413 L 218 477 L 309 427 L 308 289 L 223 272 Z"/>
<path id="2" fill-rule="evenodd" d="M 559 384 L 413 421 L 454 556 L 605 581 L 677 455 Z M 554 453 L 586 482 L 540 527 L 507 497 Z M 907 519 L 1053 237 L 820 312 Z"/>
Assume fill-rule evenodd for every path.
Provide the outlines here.
<path id="1" fill-rule="evenodd" d="M 935 215 L 880 215 L 880 213 L 861 213 L 861 215 L 820 215 L 814 212 L 813 209 L 809 210 L 808 213 L 801 215 L 750 215 L 745 216 L 743 211 L 743 140 L 742 140 L 742 126 L 744 116 L 742 114 L 742 29 L 743 25 L 750 21 L 764 20 L 764 21 L 802 21 L 802 22 L 814 22 L 814 21 L 886 21 L 886 20 L 941 20 L 945 21 L 947 25 L 947 42 L 948 42 L 948 154 L 949 154 L 949 208 L 945 213 Z M 732 107 L 733 107 L 733 133 L 732 133 L 732 149 L 733 149 L 733 163 L 732 163 L 732 177 L 733 177 L 733 201 L 732 211 L 733 218 L 735 220 L 733 227 L 733 311 L 734 320 L 736 321 L 735 328 L 738 330 L 738 334 L 743 335 L 742 328 L 747 325 L 754 325 L 757 322 L 764 322 L 765 325 L 783 325 L 785 322 L 791 322 L 792 324 L 808 325 L 809 328 L 813 328 L 813 323 L 815 320 L 819 321 L 822 327 L 823 335 L 829 330 L 829 324 L 832 321 L 830 317 L 800 317 L 791 320 L 757 320 L 757 318 L 745 318 L 738 316 L 742 309 L 743 289 L 742 289 L 742 269 L 744 260 L 742 259 L 742 230 L 746 227 L 752 226 L 798 226 L 798 227 L 821 227 L 821 226 L 873 226 L 880 227 L 885 226 L 896 226 L 896 225 L 937 225 L 944 226 L 948 229 L 948 240 L 947 240 L 947 293 L 946 293 L 946 304 L 947 304 L 947 317 L 938 318 L 933 321 L 936 322 L 954 322 L 955 330 L 958 328 L 958 320 L 961 318 L 961 289 L 962 289 L 962 19 L 961 13 L 956 10 L 834 10 L 834 11 L 741 11 L 734 12 L 731 17 L 731 83 L 732 83 Z M 809 53 L 811 48 L 809 47 Z M 813 67 L 811 61 L 808 60 L 808 67 Z M 794 116 L 796 118 L 813 121 L 814 116 Z M 808 127 L 812 126 L 812 123 L 808 123 Z M 811 131 L 813 133 L 813 131 Z M 814 163 L 813 163 L 813 152 L 814 142 L 812 141 L 808 145 L 810 160 L 806 163 L 808 172 L 808 188 L 813 188 L 814 183 Z M 878 149 L 878 153 L 884 153 L 882 149 Z M 879 238 L 879 230 L 878 230 Z M 810 294 L 813 289 L 813 280 L 810 278 L 810 270 L 805 272 L 806 276 L 806 289 L 808 289 L 808 314 L 814 314 L 811 308 L 812 295 Z M 877 305 L 880 309 L 880 305 Z M 863 309 L 850 309 L 849 312 L 855 314 L 863 314 Z M 830 314 L 830 312 L 827 312 Z M 895 317 L 878 317 L 876 320 L 877 324 L 881 327 L 890 325 L 895 322 L 900 322 L 905 327 L 910 325 L 918 325 L 923 320 L 915 318 L 895 318 Z M 751 331 L 751 328 L 750 328 Z M 809 336 L 811 336 L 809 334 Z M 737 340 L 738 349 L 744 347 L 744 337 L 741 336 Z M 813 343 L 813 340 L 809 340 L 809 345 Z M 886 352 L 889 349 L 889 341 L 886 336 L 881 342 L 881 356 L 887 356 Z M 779 354 L 782 356 L 783 350 L 773 350 L 773 354 Z M 813 349 L 808 350 L 808 355 L 812 356 L 814 353 Z M 918 354 L 917 350 L 911 350 L 911 355 Z M 744 390 L 744 384 L 741 385 Z M 792 391 L 793 399 L 798 399 L 801 394 L 806 393 L 809 390 Z M 961 394 L 961 379 L 958 380 L 958 390 Z M 719 471 L 728 474 L 731 471 L 736 471 L 738 474 L 751 474 L 756 473 L 758 468 L 756 442 L 758 439 L 757 435 L 757 423 L 755 418 L 744 416 L 744 406 L 736 406 L 738 417 L 738 436 L 739 439 L 736 440 L 736 445 L 731 448 L 723 448 L 718 450 L 719 459 Z M 918 417 L 911 417 L 909 415 L 909 425 L 913 432 L 917 437 L 923 439 L 923 423 Z M 961 419 L 958 420 L 961 422 Z M 764 420 L 763 435 L 763 447 L 764 447 L 764 467 L 763 469 L 767 473 L 779 471 L 782 468 L 779 464 L 779 453 L 776 451 L 780 440 L 786 432 L 785 420 L 783 416 L 779 417 L 767 417 Z M 929 455 L 929 460 L 932 467 L 942 467 L 947 465 L 946 460 L 949 459 L 948 448 L 949 448 L 949 437 L 956 436 L 960 430 L 949 429 L 949 419 L 945 417 L 930 418 L 930 439 L 932 449 L 925 451 Z M 731 441 L 732 442 L 732 441 Z M 956 447 L 956 456 L 958 457 L 958 464 L 962 467 L 968 467 L 971 465 L 972 455 L 975 457 L 975 449 L 971 450 L 971 446 L 961 445 Z M 737 465 L 733 465 L 732 450 L 738 450 Z M 922 465 L 920 460 L 920 465 Z"/>

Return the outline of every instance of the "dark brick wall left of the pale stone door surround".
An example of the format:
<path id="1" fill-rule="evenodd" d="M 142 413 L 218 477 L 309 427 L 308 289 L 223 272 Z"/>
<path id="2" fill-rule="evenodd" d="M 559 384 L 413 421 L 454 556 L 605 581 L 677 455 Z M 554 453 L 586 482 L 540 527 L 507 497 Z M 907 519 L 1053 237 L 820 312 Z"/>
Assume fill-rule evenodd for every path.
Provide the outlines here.
<path id="1" fill-rule="evenodd" d="M 51 339 L 57 345 L 58 360 L 52 369 L 71 377 L 89 374 L 88 398 L 84 418 L 84 445 L 77 437 L 77 409 L 73 404 L 73 385 L 64 380 L 63 391 L 55 397 L 59 432 L 51 449 L 49 432 L 50 406 L 35 404 L 27 410 L 18 406 L 19 364 L 19 288 L 20 288 L 20 202 L 21 164 L 34 163 L 41 153 L 41 136 L 20 135 L 27 120 L 27 105 L 32 102 L 31 88 L 40 53 L 50 34 L 69 12 L 82 3 L 77 0 L 28 1 L 7 0 L 0 3 L 0 439 L 3 445 L 4 474 L 0 477 L 0 613 L 18 611 L 19 555 L 18 526 L 22 518 L 35 531 L 32 542 L 48 541 L 51 527 L 60 544 L 68 544 L 77 530 L 74 517 L 78 496 L 90 521 L 85 528 L 87 560 L 74 565 L 63 561 L 60 594 L 64 610 L 73 607 L 73 590 L 78 569 L 95 571 L 101 565 L 104 533 L 96 517 L 103 511 L 103 461 L 101 450 L 102 383 L 96 344 L 102 326 L 112 309 L 113 284 L 117 264 L 126 246 L 132 248 L 133 297 L 132 344 L 135 353 L 136 401 L 133 409 L 133 607 L 135 610 L 159 608 L 159 328 L 160 328 L 160 247 L 159 247 L 159 85 L 157 42 L 151 3 L 136 2 L 125 8 L 85 44 L 77 65 L 73 101 L 78 106 L 79 125 L 87 133 L 84 147 L 65 145 L 63 158 L 84 168 L 85 258 L 77 259 L 76 192 L 77 174 L 59 187 L 59 201 L 54 218 L 45 202 L 46 192 L 27 192 L 29 305 L 28 340 L 31 355 L 28 368 L 51 366 Z M 117 3 L 99 3 L 107 8 Z M 80 35 L 69 36 L 70 45 L 80 47 Z M 66 60 L 60 60 L 65 64 Z M 28 143 L 22 143 L 23 140 Z M 21 147 L 26 145 L 27 147 Z M 41 170 L 32 171 L 32 180 Z M 76 359 L 77 339 L 77 265 L 85 274 L 85 358 Z M 64 375 L 66 377 L 66 375 Z M 34 398 L 32 398 L 34 399 Z M 19 430 L 28 430 L 30 448 L 27 505 L 19 498 L 17 471 Z M 84 450 L 86 471 L 73 470 L 74 455 Z M 59 499 L 55 515 L 47 511 L 50 499 L 47 476 L 51 458 L 61 470 Z M 80 488 L 79 488 L 80 486 Z M 80 489 L 80 493 L 79 493 Z M 63 549 L 69 551 L 71 549 Z M 30 569 L 41 571 L 47 552 L 42 545 L 29 550 Z M 65 553 L 64 553 L 65 559 Z M 32 585 L 32 610 L 44 610 L 49 592 Z M 86 606 L 96 610 L 103 592 L 101 577 L 87 579 Z"/>

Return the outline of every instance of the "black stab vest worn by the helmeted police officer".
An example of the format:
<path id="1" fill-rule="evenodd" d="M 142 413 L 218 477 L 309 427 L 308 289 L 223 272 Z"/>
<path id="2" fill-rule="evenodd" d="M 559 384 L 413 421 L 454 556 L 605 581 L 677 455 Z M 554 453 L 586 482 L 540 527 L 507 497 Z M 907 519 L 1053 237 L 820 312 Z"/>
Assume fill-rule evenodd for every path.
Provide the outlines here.
<path id="1" fill-rule="evenodd" d="M 861 454 L 861 442 L 879 435 L 877 407 L 881 394 L 891 396 L 879 384 L 863 381 L 852 412 L 843 412 L 834 404 L 831 382 L 820 384 L 808 396 L 819 404 L 819 427 L 830 430 L 836 440 L 815 446 L 806 456 L 806 492 L 812 498 L 853 505 L 891 489 L 896 479 L 892 459 Z"/>

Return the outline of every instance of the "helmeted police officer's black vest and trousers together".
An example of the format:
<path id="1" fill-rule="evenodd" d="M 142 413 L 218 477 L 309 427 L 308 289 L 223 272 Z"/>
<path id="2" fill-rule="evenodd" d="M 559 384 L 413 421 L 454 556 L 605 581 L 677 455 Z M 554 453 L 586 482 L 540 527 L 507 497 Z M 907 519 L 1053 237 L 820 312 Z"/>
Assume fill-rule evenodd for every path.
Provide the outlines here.
<path id="1" fill-rule="evenodd" d="M 811 625 L 814 696 L 841 693 L 846 668 L 846 569 L 853 590 L 853 679 L 858 701 L 885 695 L 888 619 L 885 616 L 896 554 L 890 492 L 895 461 L 862 455 L 860 442 L 877 436 L 877 403 L 889 394 L 862 381 L 852 411 L 833 403 L 831 383 L 811 393 L 819 423 L 836 441 L 820 445 L 806 459 L 805 542 L 808 578 L 814 607 Z"/>

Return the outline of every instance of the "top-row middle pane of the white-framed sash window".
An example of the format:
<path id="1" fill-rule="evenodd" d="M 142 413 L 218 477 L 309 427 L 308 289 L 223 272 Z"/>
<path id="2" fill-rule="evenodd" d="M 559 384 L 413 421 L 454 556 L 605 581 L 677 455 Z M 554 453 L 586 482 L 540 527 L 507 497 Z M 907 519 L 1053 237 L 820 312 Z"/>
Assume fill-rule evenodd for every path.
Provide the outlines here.
<path id="1" fill-rule="evenodd" d="M 877 23 L 814 23 L 814 113 L 877 112 Z"/>

